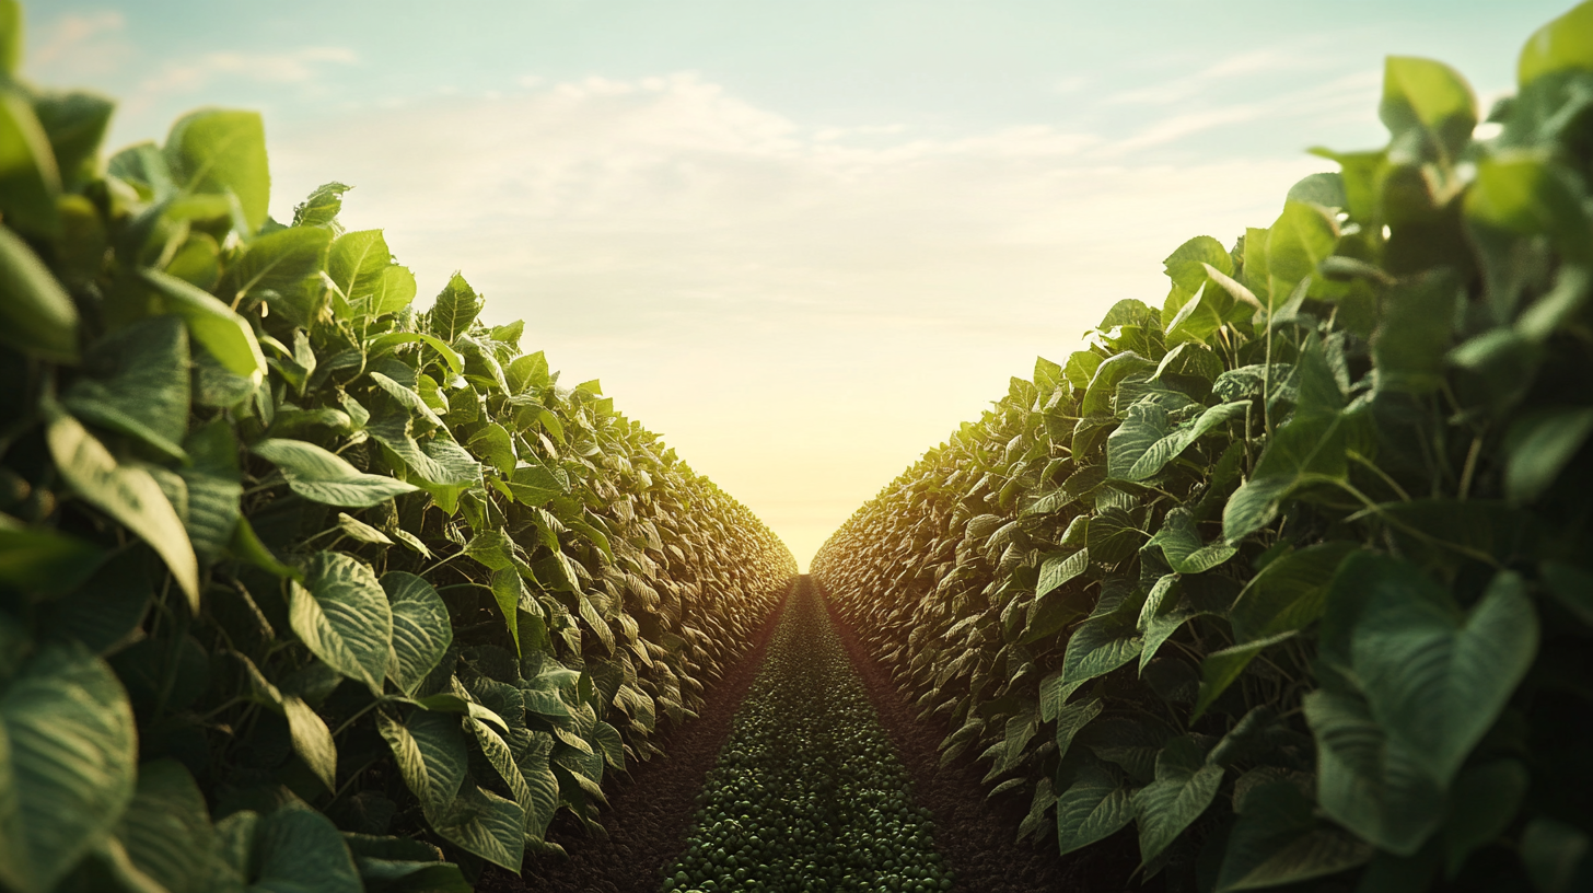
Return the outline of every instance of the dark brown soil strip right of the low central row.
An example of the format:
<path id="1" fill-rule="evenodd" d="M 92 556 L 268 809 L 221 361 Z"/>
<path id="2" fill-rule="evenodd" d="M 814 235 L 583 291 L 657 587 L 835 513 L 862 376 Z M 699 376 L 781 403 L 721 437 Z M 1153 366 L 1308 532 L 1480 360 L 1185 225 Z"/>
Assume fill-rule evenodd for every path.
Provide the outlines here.
<path id="1" fill-rule="evenodd" d="M 820 588 L 820 593 L 824 590 Z M 820 598 L 852 667 L 863 678 L 868 698 L 886 727 L 897 756 L 913 775 L 914 797 L 935 815 L 935 848 L 956 872 L 961 893 L 1109 893 L 1133 890 L 1129 872 L 1139 863 L 1134 842 L 1115 834 L 1093 847 L 1061 856 L 1050 840 L 1018 842 L 1018 826 L 1029 813 L 1029 791 L 986 799 L 984 767 L 970 754 L 940 765 L 940 742 L 951 732 L 940 718 L 919 719 L 919 708 L 897 689 L 890 671 L 859 639 L 857 631 Z"/>

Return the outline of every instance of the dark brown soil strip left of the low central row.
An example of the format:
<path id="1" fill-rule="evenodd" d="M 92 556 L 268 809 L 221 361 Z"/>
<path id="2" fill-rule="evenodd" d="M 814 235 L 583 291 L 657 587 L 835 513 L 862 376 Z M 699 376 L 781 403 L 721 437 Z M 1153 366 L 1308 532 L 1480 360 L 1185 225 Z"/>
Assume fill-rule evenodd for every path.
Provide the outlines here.
<path id="1" fill-rule="evenodd" d="M 601 821 L 609 831 L 602 840 L 586 834 L 569 813 L 561 813 L 548 839 L 569 856 L 532 855 L 524 872 L 515 877 L 489 867 L 476 890 L 481 893 L 656 893 L 660 869 L 685 848 L 687 826 L 696 810 L 707 770 L 730 735 L 730 719 L 763 667 L 769 636 L 785 608 L 782 598 L 758 630 L 753 646 L 723 676 L 707 686 L 696 719 L 658 738 L 663 756 L 632 764 L 628 775 L 605 785 L 610 808 Z"/>

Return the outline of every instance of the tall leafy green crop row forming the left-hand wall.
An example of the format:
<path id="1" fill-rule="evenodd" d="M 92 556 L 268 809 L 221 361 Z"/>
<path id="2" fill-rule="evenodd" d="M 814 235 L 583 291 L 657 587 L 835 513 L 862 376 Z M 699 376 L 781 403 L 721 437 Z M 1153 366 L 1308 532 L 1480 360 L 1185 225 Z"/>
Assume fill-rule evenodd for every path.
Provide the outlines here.
<path id="1" fill-rule="evenodd" d="M 468 890 L 660 753 L 795 565 L 263 124 L 108 161 L 0 0 L 0 887 Z M 443 861 L 444 858 L 451 861 Z"/>

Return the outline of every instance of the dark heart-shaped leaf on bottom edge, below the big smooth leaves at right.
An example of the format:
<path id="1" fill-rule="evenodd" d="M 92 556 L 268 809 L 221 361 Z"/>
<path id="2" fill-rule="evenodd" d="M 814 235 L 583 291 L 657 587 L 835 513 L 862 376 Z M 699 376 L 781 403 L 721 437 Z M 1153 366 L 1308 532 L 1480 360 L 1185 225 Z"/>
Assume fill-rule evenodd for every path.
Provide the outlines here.
<path id="1" fill-rule="evenodd" d="M 1292 781 L 1258 785 L 1228 836 L 1217 893 L 1271 890 L 1362 866 L 1373 848 L 1319 821 L 1311 801 Z"/>

